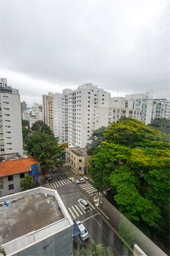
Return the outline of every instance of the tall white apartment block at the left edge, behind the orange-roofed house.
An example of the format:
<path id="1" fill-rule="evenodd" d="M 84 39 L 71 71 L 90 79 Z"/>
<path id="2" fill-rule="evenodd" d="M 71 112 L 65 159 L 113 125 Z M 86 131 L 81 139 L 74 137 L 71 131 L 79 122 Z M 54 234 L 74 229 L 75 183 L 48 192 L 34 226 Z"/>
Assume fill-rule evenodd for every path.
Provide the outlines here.
<path id="1" fill-rule="evenodd" d="M 16 152 L 23 156 L 19 90 L 0 78 L 0 154 Z"/>

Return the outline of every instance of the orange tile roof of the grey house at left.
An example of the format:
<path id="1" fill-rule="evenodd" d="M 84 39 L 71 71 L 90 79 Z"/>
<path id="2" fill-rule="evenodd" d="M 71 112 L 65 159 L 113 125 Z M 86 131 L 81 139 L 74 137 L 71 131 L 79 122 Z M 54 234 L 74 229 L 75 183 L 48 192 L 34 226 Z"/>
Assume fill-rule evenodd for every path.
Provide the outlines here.
<path id="1" fill-rule="evenodd" d="M 39 164 L 37 157 L 20 158 L 0 163 L 0 177 L 30 171 L 33 164 Z"/>

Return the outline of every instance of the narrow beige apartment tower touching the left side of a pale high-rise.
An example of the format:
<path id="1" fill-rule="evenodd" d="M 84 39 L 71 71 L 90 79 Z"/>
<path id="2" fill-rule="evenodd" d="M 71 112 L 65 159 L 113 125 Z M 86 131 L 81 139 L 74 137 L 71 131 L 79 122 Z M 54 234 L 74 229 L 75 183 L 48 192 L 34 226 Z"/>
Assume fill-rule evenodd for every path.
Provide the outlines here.
<path id="1" fill-rule="evenodd" d="M 54 96 L 47 99 L 47 124 L 54 134 Z"/>

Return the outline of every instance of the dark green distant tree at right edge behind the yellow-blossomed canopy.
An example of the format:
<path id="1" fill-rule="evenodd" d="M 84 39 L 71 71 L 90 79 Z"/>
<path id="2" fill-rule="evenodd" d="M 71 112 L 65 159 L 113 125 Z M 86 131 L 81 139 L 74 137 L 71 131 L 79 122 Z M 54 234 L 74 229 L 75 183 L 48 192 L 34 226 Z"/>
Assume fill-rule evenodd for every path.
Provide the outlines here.
<path id="1" fill-rule="evenodd" d="M 170 120 L 166 118 L 155 118 L 148 125 L 158 129 L 160 132 L 164 134 L 170 134 Z"/>

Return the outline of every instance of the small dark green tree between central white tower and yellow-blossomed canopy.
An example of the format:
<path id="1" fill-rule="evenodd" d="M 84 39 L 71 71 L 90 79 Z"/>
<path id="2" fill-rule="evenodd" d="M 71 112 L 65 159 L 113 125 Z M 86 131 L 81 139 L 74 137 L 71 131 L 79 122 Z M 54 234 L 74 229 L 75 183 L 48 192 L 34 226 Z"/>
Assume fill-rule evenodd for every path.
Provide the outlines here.
<path id="1" fill-rule="evenodd" d="M 91 143 L 87 143 L 86 149 L 88 156 L 93 156 L 94 150 L 100 145 L 104 140 L 103 133 L 105 132 L 106 127 L 101 126 L 99 129 L 95 130 L 89 137 Z"/>

